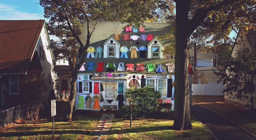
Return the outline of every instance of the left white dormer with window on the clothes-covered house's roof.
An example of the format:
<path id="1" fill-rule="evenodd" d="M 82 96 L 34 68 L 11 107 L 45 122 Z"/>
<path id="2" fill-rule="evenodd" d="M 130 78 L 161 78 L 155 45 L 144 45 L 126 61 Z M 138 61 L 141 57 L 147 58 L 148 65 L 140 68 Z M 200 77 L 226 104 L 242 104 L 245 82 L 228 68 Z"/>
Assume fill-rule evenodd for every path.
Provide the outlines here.
<path id="1" fill-rule="evenodd" d="M 103 43 L 103 58 L 119 58 L 120 43 L 112 35 Z"/>

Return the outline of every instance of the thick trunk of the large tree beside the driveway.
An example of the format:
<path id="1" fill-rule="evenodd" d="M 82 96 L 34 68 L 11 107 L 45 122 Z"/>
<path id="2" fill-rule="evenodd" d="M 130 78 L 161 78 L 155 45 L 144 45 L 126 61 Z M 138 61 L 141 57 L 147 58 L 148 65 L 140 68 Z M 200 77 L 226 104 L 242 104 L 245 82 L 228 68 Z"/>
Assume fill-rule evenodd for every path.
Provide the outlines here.
<path id="1" fill-rule="evenodd" d="M 176 2 L 176 51 L 175 51 L 175 130 L 192 129 L 189 99 L 189 36 L 188 10 L 190 3 Z"/>

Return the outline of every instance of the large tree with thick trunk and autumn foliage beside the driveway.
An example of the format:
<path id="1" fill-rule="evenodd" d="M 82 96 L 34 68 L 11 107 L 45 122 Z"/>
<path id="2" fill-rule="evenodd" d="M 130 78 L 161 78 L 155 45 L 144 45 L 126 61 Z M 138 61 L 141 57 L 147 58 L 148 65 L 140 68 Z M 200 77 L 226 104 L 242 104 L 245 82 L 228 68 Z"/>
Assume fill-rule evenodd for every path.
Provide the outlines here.
<path id="1" fill-rule="evenodd" d="M 202 34 L 204 41 L 222 41 L 231 29 L 255 28 L 255 0 L 175 0 L 176 52 L 175 52 L 175 130 L 191 129 L 188 52 L 191 34 Z M 207 36 L 203 36 L 207 35 Z M 209 41 L 208 40 L 208 41 Z"/>

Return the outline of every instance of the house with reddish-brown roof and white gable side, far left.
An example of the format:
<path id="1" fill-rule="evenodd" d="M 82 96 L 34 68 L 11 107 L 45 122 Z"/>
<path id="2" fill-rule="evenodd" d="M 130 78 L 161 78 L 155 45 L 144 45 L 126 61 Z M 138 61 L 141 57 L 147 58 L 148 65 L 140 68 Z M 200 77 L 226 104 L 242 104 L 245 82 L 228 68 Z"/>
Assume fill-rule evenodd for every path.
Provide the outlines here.
<path id="1" fill-rule="evenodd" d="M 40 70 L 52 83 L 53 64 L 45 20 L 0 20 L 1 108 L 22 104 L 20 78 L 31 70 Z"/>

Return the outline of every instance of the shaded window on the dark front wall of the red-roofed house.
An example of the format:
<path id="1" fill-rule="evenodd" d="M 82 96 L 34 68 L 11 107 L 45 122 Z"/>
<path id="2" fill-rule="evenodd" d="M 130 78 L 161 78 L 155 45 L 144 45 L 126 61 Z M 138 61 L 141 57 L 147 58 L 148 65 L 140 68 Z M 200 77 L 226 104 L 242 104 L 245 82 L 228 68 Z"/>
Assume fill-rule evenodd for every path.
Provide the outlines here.
<path id="1" fill-rule="evenodd" d="M 9 76 L 9 94 L 19 94 L 19 76 Z"/>

